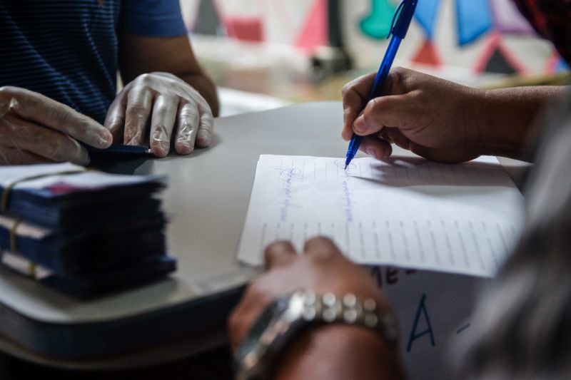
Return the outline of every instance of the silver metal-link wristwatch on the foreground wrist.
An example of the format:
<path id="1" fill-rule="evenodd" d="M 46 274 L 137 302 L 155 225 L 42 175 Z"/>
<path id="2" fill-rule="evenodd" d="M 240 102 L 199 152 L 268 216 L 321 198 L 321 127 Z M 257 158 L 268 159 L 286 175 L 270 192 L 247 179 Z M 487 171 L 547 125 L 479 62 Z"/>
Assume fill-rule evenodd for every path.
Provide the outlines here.
<path id="1" fill-rule="evenodd" d="M 276 356 L 302 329 L 317 323 L 366 327 L 378 332 L 390 346 L 397 345 L 395 316 L 379 310 L 374 299 L 298 290 L 269 304 L 253 324 L 234 353 L 238 363 L 236 379 L 268 379 Z"/>

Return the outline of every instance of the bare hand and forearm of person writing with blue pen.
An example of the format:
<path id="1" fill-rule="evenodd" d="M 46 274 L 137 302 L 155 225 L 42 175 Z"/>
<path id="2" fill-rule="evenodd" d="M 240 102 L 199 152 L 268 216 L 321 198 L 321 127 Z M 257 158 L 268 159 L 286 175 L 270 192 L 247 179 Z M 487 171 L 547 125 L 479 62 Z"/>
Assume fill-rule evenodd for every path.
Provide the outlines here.
<path id="1" fill-rule="evenodd" d="M 366 103 L 375 74 L 343 88 L 342 136 L 366 136 L 360 150 L 387 158 L 390 144 L 430 160 L 460 163 L 480 155 L 519 158 L 538 113 L 565 86 L 478 90 L 395 68 L 386 96 Z"/>

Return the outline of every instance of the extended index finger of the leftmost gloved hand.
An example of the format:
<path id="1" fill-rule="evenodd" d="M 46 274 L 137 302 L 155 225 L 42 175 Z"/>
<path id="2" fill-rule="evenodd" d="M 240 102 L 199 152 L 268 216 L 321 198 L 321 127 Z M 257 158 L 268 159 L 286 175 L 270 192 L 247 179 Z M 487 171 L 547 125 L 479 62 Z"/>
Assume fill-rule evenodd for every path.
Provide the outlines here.
<path id="1" fill-rule="evenodd" d="M 103 125 L 63 103 L 25 88 L 3 88 L 2 91 L 11 97 L 8 111 L 20 118 L 58 130 L 96 148 L 107 148 L 113 141 Z"/>

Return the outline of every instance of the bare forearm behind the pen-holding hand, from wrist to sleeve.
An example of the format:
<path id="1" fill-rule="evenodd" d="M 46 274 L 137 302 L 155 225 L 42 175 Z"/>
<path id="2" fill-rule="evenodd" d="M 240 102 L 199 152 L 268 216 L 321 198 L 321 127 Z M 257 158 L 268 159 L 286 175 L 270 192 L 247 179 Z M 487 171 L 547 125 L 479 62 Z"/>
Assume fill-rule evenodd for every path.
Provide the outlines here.
<path id="1" fill-rule="evenodd" d="M 522 158 L 533 143 L 542 109 L 561 98 L 568 86 L 502 88 L 477 92 L 473 120 L 485 155 Z"/>

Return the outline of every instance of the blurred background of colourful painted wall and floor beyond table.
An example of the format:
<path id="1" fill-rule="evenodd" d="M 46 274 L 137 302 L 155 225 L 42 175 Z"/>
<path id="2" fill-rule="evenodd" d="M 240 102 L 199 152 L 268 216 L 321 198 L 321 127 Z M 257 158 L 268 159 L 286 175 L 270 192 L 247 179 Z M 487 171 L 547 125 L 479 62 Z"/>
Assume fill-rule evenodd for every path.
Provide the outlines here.
<path id="1" fill-rule="evenodd" d="M 340 100 L 376 71 L 399 1 L 181 0 L 223 115 Z M 569 68 L 511 0 L 419 0 L 395 66 L 468 86 L 565 83 Z"/>

